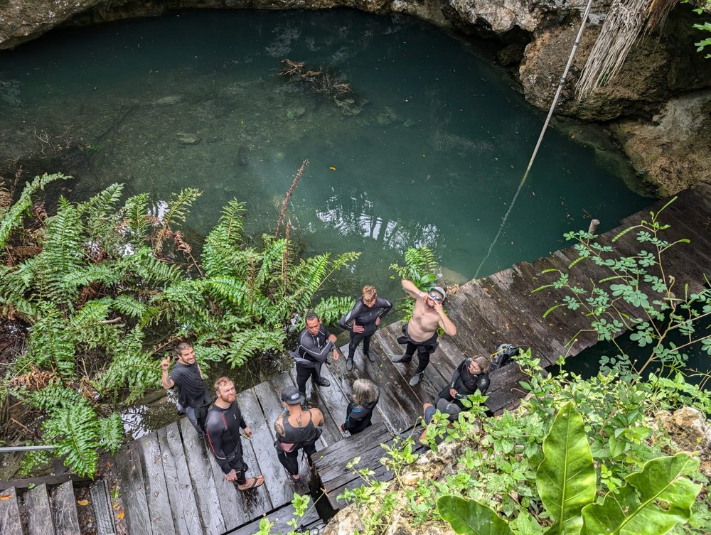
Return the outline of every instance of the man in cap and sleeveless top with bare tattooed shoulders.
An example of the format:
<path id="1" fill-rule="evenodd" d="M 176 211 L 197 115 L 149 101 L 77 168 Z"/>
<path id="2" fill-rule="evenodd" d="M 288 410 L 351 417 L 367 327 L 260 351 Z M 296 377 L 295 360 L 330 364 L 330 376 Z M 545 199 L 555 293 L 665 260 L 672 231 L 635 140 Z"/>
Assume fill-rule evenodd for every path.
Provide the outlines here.
<path id="1" fill-rule="evenodd" d="M 292 481 L 299 481 L 299 450 L 304 450 L 307 462 L 311 466 L 311 455 L 316 453 L 316 440 L 321 436 L 321 426 L 324 425 L 324 414 L 319 409 L 304 410 L 301 403 L 304 394 L 295 387 L 282 390 L 284 414 L 274 421 L 274 431 L 277 431 L 277 448 L 279 463 L 287 469 Z"/>

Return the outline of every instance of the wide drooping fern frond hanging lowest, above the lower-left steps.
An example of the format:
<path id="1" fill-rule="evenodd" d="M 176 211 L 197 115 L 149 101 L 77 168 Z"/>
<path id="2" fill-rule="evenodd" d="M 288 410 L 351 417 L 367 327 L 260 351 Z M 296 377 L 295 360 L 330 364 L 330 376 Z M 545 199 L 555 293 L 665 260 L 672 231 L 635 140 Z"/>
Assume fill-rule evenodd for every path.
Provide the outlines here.
<path id="1" fill-rule="evenodd" d="M 50 412 L 43 424 L 44 438 L 54 443 L 55 455 L 77 475 L 92 477 L 99 460 L 97 414 L 87 403 L 60 407 Z"/>

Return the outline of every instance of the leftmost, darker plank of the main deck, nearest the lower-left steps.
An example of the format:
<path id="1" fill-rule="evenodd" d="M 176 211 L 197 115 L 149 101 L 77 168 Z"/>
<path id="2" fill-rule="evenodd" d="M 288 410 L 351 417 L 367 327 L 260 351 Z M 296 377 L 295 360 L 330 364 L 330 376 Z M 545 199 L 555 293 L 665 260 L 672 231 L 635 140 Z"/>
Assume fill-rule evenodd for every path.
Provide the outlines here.
<path id="1" fill-rule="evenodd" d="M 117 451 L 114 456 L 114 465 L 121 480 L 124 522 L 131 535 L 153 535 L 143 466 L 137 450 L 137 444 L 129 444 L 126 448 Z"/>

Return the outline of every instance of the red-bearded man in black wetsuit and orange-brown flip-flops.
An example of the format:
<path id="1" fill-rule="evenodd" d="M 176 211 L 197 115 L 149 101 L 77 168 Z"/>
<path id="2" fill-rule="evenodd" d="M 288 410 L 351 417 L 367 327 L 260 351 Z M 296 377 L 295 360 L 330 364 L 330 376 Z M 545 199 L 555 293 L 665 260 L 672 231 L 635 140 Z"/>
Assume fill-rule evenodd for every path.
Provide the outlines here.
<path id="1" fill-rule="evenodd" d="M 218 399 L 208 411 L 205 431 L 208 443 L 218 465 L 225 474 L 225 480 L 235 482 L 239 490 L 250 490 L 264 483 L 264 475 L 247 479 L 247 463 L 243 458 L 241 430 L 250 438 L 252 430 L 247 427 L 237 404 L 235 384 L 228 377 L 215 381 Z"/>

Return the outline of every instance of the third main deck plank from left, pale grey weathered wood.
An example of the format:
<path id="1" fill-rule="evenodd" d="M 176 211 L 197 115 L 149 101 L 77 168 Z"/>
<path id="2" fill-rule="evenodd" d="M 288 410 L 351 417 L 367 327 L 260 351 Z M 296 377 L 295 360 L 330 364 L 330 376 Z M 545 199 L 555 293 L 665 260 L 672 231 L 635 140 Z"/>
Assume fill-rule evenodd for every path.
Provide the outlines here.
<path id="1" fill-rule="evenodd" d="M 176 532 L 179 535 L 200 533 L 203 528 L 198 504 L 193 495 L 193 482 L 185 462 L 183 442 L 176 422 L 158 430 L 158 443 Z"/>

